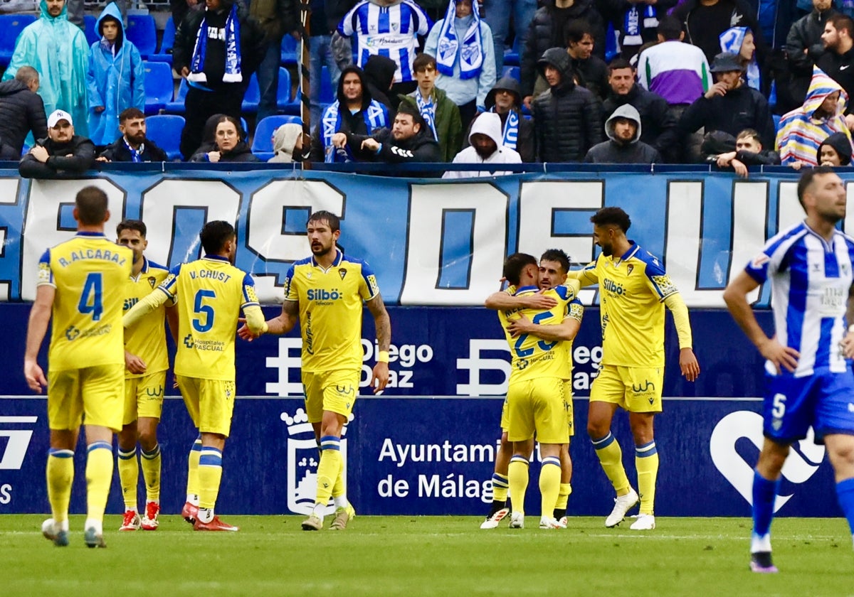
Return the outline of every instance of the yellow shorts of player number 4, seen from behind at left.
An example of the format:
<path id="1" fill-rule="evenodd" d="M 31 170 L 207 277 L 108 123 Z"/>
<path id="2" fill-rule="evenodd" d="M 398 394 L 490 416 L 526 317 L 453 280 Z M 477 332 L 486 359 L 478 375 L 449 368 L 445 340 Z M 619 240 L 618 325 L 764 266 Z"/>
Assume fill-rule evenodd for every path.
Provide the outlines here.
<path id="1" fill-rule="evenodd" d="M 51 429 L 86 425 L 121 429 L 125 365 L 97 365 L 48 372 L 48 423 Z"/>

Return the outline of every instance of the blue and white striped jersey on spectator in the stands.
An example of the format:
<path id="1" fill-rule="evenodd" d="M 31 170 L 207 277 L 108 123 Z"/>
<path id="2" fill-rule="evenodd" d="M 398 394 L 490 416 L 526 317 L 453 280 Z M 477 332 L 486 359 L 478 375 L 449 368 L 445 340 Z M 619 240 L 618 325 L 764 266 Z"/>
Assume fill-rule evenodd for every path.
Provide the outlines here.
<path id="1" fill-rule="evenodd" d="M 414 78 L 412 61 L 418 36 L 430 32 L 430 18 L 412 0 L 403 0 L 395 6 L 377 6 L 363 0 L 344 16 L 338 32 L 345 38 L 357 36 L 360 67 L 364 68 L 374 54 L 397 62 L 395 83 L 401 83 Z"/>

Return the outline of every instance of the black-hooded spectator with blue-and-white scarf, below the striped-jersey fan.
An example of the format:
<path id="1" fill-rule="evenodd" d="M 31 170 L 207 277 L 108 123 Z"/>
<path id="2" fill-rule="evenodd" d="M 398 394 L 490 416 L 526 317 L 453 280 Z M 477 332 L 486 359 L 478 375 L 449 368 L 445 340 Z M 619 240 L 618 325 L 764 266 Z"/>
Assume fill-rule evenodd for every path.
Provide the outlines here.
<path id="1" fill-rule="evenodd" d="M 332 137 L 336 133 L 368 136 L 387 126 L 389 108 L 371 98 L 360 67 L 347 67 L 338 78 L 338 99 L 326 107 L 315 130 L 312 159 L 328 163 L 352 161 L 352 155 L 332 144 Z"/>

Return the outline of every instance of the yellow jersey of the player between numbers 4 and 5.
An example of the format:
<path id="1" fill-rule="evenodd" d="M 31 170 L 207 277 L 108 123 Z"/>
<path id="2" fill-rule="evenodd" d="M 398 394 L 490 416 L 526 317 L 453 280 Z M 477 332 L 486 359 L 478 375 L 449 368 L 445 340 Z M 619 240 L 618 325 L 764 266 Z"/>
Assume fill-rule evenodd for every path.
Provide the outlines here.
<path id="1" fill-rule="evenodd" d="M 136 277 L 131 274 L 125 297 L 125 311 L 130 310 L 140 299 L 147 297 L 152 290 L 167 279 L 169 270 L 149 261 L 143 256 L 143 269 Z M 161 304 L 149 315 L 125 330 L 125 350 L 141 358 L 145 363 L 144 374 L 132 374 L 125 369 L 125 377 L 142 377 L 143 375 L 166 371 L 169 368 L 169 355 L 166 348 L 166 305 Z"/>

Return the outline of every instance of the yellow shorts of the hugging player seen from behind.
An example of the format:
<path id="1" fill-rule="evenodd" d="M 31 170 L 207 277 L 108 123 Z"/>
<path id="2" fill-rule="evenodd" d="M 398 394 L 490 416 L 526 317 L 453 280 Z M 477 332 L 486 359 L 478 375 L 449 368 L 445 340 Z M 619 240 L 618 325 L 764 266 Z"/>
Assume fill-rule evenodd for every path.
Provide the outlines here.
<path id="1" fill-rule="evenodd" d="M 536 432 L 540 443 L 567 443 L 564 380 L 544 377 L 507 389 L 507 439 L 524 442 Z"/>

